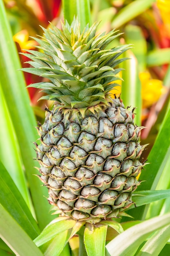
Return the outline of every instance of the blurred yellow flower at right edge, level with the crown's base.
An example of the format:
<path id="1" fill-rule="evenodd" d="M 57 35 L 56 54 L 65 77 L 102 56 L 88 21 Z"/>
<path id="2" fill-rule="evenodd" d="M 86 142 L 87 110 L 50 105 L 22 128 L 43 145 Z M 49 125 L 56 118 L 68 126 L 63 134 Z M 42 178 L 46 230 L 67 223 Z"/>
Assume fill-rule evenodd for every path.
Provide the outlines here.
<path id="1" fill-rule="evenodd" d="M 142 102 L 143 108 L 148 108 L 156 103 L 160 96 L 165 93 L 161 80 L 152 79 L 148 71 L 139 74 L 142 85 Z"/>

